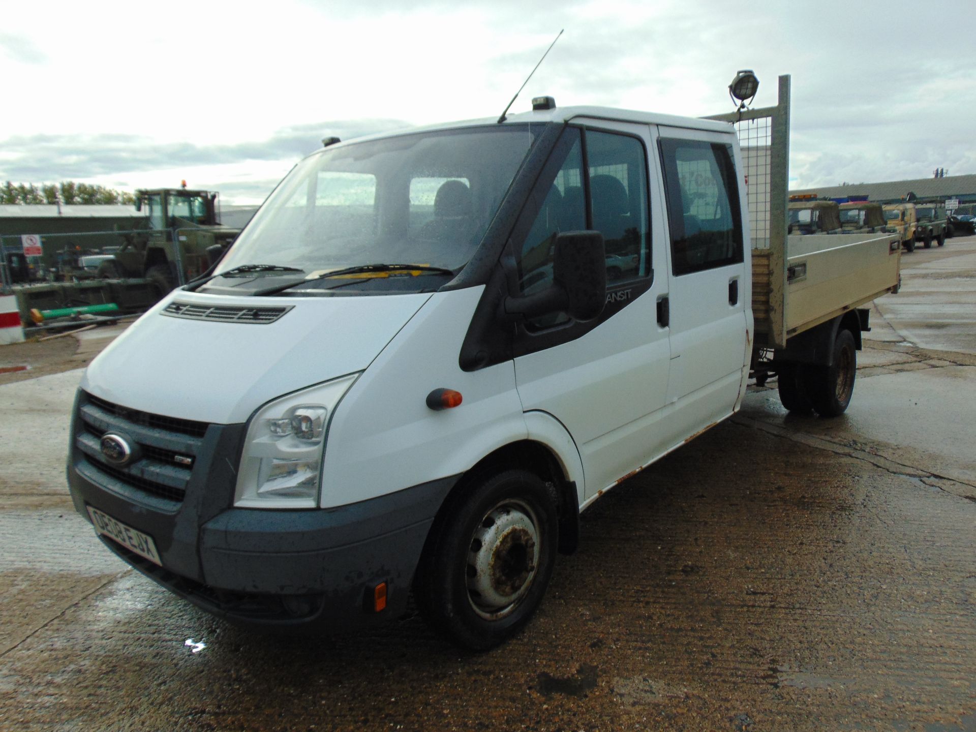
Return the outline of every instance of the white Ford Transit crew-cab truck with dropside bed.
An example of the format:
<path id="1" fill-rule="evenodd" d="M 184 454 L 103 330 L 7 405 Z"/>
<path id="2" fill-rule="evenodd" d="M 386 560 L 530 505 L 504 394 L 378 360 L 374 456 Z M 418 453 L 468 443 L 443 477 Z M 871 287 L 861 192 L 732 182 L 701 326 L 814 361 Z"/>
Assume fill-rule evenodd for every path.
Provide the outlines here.
<path id="1" fill-rule="evenodd" d="M 857 305 L 900 250 L 788 244 L 788 92 L 728 121 L 539 98 L 319 149 L 88 367 L 75 507 L 239 625 L 345 630 L 412 593 L 454 641 L 505 640 L 580 511 L 734 414 L 751 374 L 793 411 L 846 408 Z"/>

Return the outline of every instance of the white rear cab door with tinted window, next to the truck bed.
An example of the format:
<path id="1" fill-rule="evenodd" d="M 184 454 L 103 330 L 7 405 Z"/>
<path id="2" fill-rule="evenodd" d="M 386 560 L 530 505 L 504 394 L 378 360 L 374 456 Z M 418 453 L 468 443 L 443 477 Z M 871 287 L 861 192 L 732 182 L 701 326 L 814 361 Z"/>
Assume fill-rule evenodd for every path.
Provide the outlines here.
<path id="1" fill-rule="evenodd" d="M 749 376 L 752 274 L 732 134 L 657 128 L 668 211 L 668 403 L 681 434 L 711 427 L 737 409 Z"/>

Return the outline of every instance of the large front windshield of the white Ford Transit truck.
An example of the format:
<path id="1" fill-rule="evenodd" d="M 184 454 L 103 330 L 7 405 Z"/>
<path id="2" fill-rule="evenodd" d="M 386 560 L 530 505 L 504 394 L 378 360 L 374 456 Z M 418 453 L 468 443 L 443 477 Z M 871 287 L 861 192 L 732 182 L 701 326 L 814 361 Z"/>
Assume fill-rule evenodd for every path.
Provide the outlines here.
<path id="1" fill-rule="evenodd" d="M 468 262 L 543 125 L 440 130 L 329 147 L 299 163 L 221 270 Z M 425 278 L 427 279 L 427 278 Z"/>

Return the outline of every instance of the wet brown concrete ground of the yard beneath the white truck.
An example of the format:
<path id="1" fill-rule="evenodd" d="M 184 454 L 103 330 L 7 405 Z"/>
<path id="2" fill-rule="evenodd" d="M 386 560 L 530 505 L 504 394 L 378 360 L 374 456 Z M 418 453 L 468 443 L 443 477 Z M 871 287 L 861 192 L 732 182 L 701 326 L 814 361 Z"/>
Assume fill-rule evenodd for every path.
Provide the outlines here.
<path id="1" fill-rule="evenodd" d="M 976 732 L 976 238 L 903 272 L 845 415 L 752 388 L 587 511 L 481 655 L 416 617 L 296 641 L 191 608 L 71 507 L 80 372 L 0 386 L 0 730 Z"/>

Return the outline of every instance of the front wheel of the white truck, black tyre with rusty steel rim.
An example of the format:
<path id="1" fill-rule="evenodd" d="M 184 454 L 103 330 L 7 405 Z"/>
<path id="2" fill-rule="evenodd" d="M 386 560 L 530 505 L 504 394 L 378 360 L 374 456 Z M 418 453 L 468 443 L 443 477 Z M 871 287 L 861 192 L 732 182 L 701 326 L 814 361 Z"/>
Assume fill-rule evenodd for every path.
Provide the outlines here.
<path id="1" fill-rule="evenodd" d="M 453 494 L 414 582 L 427 624 L 484 651 L 521 630 L 542 601 L 558 548 L 549 486 L 527 470 L 474 479 Z"/>

